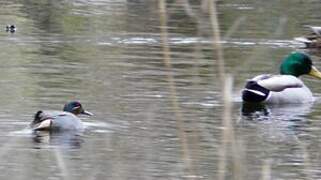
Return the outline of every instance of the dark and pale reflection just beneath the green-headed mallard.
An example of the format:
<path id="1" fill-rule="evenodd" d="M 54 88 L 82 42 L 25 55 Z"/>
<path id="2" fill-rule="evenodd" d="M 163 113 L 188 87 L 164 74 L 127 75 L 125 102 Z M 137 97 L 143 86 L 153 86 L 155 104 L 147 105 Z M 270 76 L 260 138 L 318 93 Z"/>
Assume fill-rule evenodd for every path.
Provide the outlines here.
<path id="1" fill-rule="evenodd" d="M 311 133 L 308 117 L 312 107 L 313 104 L 243 104 L 241 124 L 254 126 L 261 141 L 300 145 L 299 138 Z"/>

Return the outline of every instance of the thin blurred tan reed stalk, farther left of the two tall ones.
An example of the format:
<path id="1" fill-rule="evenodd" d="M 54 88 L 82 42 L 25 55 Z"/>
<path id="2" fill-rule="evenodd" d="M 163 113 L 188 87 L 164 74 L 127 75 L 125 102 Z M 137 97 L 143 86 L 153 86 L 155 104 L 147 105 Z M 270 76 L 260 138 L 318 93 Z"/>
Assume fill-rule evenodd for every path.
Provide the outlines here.
<path id="1" fill-rule="evenodd" d="M 172 71 L 171 57 L 170 57 L 170 48 L 168 41 L 168 32 L 167 32 L 167 10 L 166 10 L 166 0 L 159 0 L 159 11 L 160 11 L 160 29 L 161 29 L 161 40 L 162 48 L 164 55 L 164 64 L 168 72 Z M 184 132 L 184 122 L 181 108 L 178 103 L 176 85 L 174 77 L 171 73 L 167 74 L 167 80 L 169 83 L 171 103 L 175 112 L 176 125 L 178 129 L 178 137 L 182 145 L 182 159 L 190 175 L 194 175 L 194 169 L 192 166 L 192 160 L 190 155 L 190 150 L 188 147 L 188 140 L 186 133 Z M 190 176 L 193 177 L 193 176 Z"/>

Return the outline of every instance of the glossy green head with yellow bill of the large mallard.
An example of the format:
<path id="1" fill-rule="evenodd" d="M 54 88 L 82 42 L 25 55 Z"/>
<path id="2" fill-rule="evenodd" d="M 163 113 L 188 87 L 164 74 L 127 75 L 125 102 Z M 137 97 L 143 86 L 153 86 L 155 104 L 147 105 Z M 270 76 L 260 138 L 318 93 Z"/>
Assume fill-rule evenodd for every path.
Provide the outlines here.
<path id="1" fill-rule="evenodd" d="M 293 52 L 286 57 L 281 63 L 280 73 L 295 77 L 307 74 L 321 79 L 321 72 L 313 66 L 311 58 L 301 52 Z"/>

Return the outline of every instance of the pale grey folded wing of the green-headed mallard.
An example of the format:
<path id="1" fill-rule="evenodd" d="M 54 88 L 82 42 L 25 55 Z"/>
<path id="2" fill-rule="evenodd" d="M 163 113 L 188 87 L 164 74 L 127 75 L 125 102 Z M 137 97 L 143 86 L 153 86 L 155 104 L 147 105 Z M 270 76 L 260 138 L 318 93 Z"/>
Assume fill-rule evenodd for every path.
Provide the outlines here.
<path id="1" fill-rule="evenodd" d="M 287 88 L 301 88 L 304 86 L 299 78 L 291 75 L 273 75 L 268 78 L 258 79 L 257 83 L 270 91 L 276 92 Z"/>

